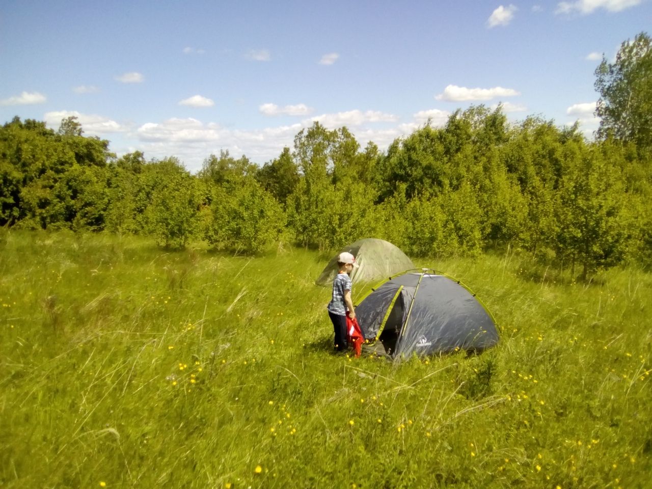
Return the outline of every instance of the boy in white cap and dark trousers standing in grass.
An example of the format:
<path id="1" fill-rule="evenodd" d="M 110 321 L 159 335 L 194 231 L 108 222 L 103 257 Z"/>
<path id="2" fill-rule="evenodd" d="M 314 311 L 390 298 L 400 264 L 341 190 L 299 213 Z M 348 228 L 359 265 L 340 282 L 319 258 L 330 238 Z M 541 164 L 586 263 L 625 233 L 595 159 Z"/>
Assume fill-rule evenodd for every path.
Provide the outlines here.
<path id="1" fill-rule="evenodd" d="M 346 312 L 349 312 L 349 318 L 355 319 L 353 302 L 351 301 L 351 271 L 357 268 L 355 256 L 348 252 L 340 253 L 337 259 L 338 273 L 333 280 L 333 299 L 328 304 L 328 315 L 333 322 L 335 333 L 335 349 L 337 351 L 346 351 Z"/>

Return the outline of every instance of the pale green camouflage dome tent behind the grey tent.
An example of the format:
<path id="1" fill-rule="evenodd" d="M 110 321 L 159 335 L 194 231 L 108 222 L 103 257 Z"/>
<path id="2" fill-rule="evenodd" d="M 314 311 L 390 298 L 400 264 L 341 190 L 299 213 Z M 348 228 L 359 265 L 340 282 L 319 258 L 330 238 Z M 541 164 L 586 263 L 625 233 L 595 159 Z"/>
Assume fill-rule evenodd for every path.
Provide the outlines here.
<path id="1" fill-rule="evenodd" d="M 358 268 L 351 272 L 351 282 L 354 284 L 374 282 L 414 268 L 412 260 L 394 244 L 383 239 L 365 238 L 344 246 L 315 280 L 317 285 L 327 286 L 333 283 L 338 271 L 337 257 L 345 251 L 353 254 L 355 263 L 358 264 Z"/>

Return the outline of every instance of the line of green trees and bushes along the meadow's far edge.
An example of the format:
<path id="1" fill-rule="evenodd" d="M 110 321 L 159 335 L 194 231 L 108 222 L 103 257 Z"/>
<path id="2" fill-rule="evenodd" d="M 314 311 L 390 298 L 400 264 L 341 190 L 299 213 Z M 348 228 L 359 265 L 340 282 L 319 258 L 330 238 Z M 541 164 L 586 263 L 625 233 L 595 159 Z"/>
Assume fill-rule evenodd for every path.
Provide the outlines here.
<path id="1" fill-rule="evenodd" d="M 346 127 L 314 123 L 263 166 L 221 151 L 191 174 L 175 157 L 117 158 L 74 117 L 58 131 L 14 117 L 0 128 L 0 226 L 144 234 L 162 246 L 203 240 L 242 253 L 369 236 L 413 256 L 510 246 L 584 276 L 649 266 L 651 53 L 642 33 L 597 68 L 595 141 L 577 125 L 510 124 L 500 106 L 481 105 L 383 152 Z"/>

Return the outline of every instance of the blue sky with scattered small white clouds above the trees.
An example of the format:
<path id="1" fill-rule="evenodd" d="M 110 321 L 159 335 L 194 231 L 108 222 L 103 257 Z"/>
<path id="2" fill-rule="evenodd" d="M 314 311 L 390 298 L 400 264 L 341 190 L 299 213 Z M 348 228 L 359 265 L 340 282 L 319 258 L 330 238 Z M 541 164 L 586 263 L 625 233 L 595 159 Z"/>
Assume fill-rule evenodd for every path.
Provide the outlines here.
<path id="1" fill-rule="evenodd" d="M 314 121 L 384 151 L 479 104 L 591 138 L 595 68 L 651 26 L 652 0 L 0 0 L 0 123 L 73 115 L 192 172 Z"/>

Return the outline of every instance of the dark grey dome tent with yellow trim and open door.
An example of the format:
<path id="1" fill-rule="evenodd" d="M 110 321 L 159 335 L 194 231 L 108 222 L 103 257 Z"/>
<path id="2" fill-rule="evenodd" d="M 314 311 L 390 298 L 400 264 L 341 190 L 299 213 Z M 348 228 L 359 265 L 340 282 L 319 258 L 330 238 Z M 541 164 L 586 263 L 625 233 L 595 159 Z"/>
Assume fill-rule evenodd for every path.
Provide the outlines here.
<path id="1" fill-rule="evenodd" d="M 355 306 L 365 340 L 394 359 L 495 346 L 494 318 L 461 282 L 423 269 L 372 288 Z"/>

